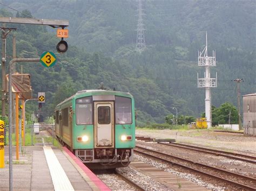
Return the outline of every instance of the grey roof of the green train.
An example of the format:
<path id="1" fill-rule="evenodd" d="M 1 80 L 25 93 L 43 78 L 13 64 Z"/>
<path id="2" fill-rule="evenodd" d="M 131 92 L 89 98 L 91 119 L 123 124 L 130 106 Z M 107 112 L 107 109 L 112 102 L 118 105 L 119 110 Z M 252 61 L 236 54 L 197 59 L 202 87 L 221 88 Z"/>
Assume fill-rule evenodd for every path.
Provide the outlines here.
<path id="1" fill-rule="evenodd" d="M 58 107 L 59 105 L 62 105 L 63 103 L 72 100 L 72 98 L 79 96 L 79 95 L 122 95 L 122 96 L 127 96 L 127 97 L 132 97 L 132 95 L 130 93 L 126 93 L 123 91 L 114 91 L 114 90 L 104 90 L 104 89 L 88 89 L 88 90 L 80 90 L 77 91 L 76 94 L 66 98 L 63 102 L 60 102 L 59 104 L 56 105 L 56 107 Z"/>

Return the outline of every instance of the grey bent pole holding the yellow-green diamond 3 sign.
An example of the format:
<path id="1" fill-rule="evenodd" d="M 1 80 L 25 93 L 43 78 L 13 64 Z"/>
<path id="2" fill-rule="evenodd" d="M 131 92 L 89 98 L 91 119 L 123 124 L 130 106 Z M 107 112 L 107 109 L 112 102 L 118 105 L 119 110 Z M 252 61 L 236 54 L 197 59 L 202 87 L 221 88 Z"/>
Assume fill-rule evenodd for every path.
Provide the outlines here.
<path id="1" fill-rule="evenodd" d="M 39 62 L 40 58 L 15 58 L 9 63 L 9 190 L 12 191 L 12 65 L 15 62 Z"/>

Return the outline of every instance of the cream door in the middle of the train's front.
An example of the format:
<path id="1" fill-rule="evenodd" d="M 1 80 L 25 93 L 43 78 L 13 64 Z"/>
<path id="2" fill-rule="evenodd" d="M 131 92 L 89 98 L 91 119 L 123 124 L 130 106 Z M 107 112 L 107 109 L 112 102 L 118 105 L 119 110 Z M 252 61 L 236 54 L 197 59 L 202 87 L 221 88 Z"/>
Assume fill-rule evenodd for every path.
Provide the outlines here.
<path id="1" fill-rule="evenodd" d="M 114 102 L 94 103 L 95 147 L 114 147 Z"/>

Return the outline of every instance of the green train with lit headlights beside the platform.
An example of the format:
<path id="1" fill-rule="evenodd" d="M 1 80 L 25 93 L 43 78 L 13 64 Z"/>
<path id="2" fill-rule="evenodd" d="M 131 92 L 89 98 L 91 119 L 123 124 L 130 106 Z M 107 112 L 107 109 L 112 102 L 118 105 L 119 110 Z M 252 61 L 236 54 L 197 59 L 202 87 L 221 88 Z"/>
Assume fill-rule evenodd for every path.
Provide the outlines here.
<path id="1" fill-rule="evenodd" d="M 127 166 L 135 147 L 133 96 L 102 89 L 78 91 L 56 106 L 55 133 L 89 168 Z"/>

